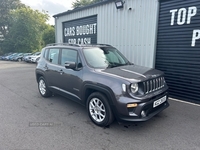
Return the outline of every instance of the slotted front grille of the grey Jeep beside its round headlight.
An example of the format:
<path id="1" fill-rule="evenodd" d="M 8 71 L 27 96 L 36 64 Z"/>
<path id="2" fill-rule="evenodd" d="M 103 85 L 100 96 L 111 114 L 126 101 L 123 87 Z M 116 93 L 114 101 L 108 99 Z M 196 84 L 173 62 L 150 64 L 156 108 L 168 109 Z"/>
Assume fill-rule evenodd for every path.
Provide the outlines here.
<path id="1" fill-rule="evenodd" d="M 143 82 L 144 93 L 148 94 L 150 92 L 156 91 L 162 87 L 164 87 L 165 79 L 164 77 L 159 77 L 156 79 L 148 80 Z"/>

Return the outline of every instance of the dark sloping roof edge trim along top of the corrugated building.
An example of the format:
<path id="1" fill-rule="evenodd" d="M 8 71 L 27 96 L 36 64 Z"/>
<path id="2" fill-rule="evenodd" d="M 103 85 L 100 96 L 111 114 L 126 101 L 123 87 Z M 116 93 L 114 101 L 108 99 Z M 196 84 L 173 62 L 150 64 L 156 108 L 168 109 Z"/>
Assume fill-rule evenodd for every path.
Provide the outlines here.
<path id="1" fill-rule="evenodd" d="M 74 13 L 74 12 L 78 12 L 78 11 L 85 10 L 85 9 L 88 9 L 88 8 L 96 7 L 96 6 L 99 6 L 99 5 L 104 5 L 104 4 L 107 4 L 107 3 L 114 2 L 114 1 L 115 0 L 103 0 L 101 2 L 94 3 L 94 4 L 91 4 L 91 5 L 85 6 L 85 7 L 77 7 L 77 8 L 74 8 L 72 10 L 68 10 L 68 11 L 65 11 L 63 13 L 56 14 L 53 17 L 56 18 L 56 17 L 59 17 L 59 16 L 68 15 L 68 14 L 71 14 L 71 13 Z"/>

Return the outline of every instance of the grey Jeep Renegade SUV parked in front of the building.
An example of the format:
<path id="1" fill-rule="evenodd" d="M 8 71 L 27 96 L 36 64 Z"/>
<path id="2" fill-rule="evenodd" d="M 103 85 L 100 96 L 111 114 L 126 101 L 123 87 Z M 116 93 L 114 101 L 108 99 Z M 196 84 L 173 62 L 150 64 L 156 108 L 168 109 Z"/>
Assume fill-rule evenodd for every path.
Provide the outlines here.
<path id="1" fill-rule="evenodd" d="M 163 72 L 134 65 L 110 45 L 47 45 L 36 79 L 43 97 L 58 93 L 86 106 L 98 126 L 146 121 L 169 106 Z"/>

